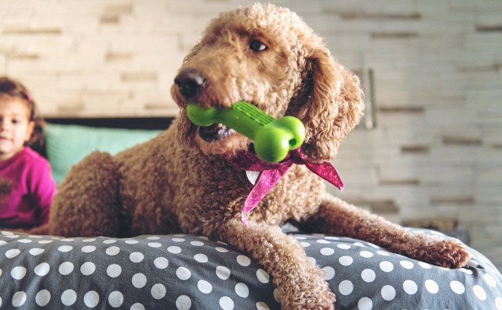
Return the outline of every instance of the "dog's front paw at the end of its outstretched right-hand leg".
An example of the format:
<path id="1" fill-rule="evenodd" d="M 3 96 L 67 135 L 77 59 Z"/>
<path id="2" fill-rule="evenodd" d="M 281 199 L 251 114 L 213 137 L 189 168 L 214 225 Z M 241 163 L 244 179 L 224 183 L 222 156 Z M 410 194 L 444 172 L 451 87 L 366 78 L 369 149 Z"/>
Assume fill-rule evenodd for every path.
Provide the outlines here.
<path id="1" fill-rule="evenodd" d="M 424 262 L 446 268 L 461 268 L 467 265 L 470 254 L 458 240 L 438 240 L 433 244 L 424 245 L 415 252 L 417 258 Z"/>

